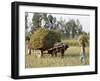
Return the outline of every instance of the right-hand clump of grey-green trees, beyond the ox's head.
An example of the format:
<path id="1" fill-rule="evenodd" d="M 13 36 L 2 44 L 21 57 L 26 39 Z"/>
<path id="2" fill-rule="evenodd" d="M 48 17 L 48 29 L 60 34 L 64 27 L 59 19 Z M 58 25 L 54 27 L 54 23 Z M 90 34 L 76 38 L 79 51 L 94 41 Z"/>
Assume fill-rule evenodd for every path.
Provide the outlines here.
<path id="1" fill-rule="evenodd" d="M 62 31 L 61 33 L 63 38 L 77 38 L 82 32 L 82 25 L 78 19 L 76 21 L 74 19 L 70 19 L 66 22 L 66 20 L 60 18 L 58 23 L 60 30 Z"/>

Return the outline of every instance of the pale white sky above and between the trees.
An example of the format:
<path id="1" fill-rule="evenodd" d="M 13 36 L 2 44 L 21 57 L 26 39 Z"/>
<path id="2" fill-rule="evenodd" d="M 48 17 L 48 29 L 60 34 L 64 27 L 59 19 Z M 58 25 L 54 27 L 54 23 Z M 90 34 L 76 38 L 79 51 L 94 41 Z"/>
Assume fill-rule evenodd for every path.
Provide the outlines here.
<path id="1" fill-rule="evenodd" d="M 90 32 L 90 16 L 89 15 L 78 15 L 78 14 L 52 14 L 53 17 L 56 17 L 57 21 L 60 18 L 66 20 L 68 22 L 70 19 L 74 19 L 75 21 L 79 19 L 80 24 L 83 27 L 83 31 Z M 28 22 L 32 23 L 33 13 L 28 13 Z"/>

